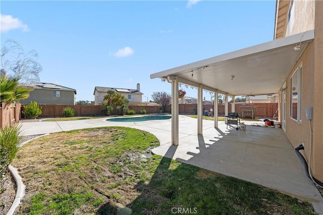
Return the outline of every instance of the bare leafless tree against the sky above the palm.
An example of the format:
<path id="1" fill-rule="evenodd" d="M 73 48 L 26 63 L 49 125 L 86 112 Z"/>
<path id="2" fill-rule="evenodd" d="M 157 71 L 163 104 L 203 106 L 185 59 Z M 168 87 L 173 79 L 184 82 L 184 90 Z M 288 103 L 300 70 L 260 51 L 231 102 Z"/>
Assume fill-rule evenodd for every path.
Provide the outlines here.
<path id="1" fill-rule="evenodd" d="M 0 56 L 2 76 L 20 77 L 20 83 L 39 82 L 42 67 L 36 61 L 38 53 L 35 50 L 25 53 L 18 42 L 7 40 Z"/>

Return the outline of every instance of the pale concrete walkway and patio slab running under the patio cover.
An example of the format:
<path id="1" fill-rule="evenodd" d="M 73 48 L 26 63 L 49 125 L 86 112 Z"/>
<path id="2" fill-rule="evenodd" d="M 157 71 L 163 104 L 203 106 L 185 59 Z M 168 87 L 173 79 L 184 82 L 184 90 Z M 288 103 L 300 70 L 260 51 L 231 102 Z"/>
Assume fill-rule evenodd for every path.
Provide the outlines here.
<path id="1" fill-rule="evenodd" d="M 171 146 L 171 119 L 142 122 L 107 122 L 105 119 L 24 122 L 24 135 L 35 135 L 100 126 L 127 126 L 154 134 L 160 146 L 154 154 L 214 172 L 277 189 L 283 193 L 319 202 L 323 198 L 305 175 L 303 165 L 282 129 L 251 126 L 226 129 L 219 121 L 203 120 L 203 135 L 197 135 L 197 119 L 179 116 L 179 146 Z M 261 123 L 261 122 L 260 122 Z M 263 122 L 262 122 L 263 123 Z M 323 211 L 323 209 L 322 209 Z"/>

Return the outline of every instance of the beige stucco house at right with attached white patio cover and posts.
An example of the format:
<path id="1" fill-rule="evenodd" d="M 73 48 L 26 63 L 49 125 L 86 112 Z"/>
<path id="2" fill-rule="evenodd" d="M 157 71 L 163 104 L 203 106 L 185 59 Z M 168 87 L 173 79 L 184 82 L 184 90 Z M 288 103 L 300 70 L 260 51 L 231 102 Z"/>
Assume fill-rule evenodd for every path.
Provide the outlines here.
<path id="1" fill-rule="evenodd" d="M 275 14 L 275 17 L 274 17 Z M 179 145 L 178 88 L 197 88 L 197 133 L 202 134 L 202 92 L 228 97 L 279 93 L 282 129 L 311 175 L 323 182 L 323 1 L 276 2 L 274 40 L 150 75 L 172 84 L 172 145 Z M 248 83 L 248 84 L 245 84 Z M 234 104 L 234 103 L 233 103 Z M 214 105 L 214 127 L 218 127 Z M 234 111 L 234 105 L 233 110 Z"/>

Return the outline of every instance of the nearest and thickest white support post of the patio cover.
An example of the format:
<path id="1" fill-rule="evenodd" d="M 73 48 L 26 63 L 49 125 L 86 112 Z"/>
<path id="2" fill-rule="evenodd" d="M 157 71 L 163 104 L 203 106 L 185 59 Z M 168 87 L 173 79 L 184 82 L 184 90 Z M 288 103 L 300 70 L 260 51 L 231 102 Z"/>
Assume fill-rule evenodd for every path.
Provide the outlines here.
<path id="1" fill-rule="evenodd" d="M 175 76 L 172 76 L 170 81 L 172 82 L 172 145 L 178 146 L 178 80 Z"/>

